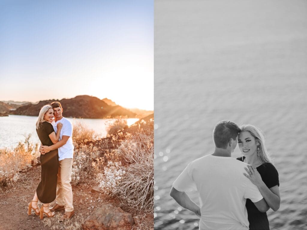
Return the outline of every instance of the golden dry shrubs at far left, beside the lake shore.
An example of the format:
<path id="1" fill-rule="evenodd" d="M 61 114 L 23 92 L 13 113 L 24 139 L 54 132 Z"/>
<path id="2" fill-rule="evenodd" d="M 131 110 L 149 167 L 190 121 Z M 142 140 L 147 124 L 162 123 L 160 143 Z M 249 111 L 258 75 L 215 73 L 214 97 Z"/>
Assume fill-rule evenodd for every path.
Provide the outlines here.
<path id="1" fill-rule="evenodd" d="M 37 161 L 38 144 L 30 143 L 30 137 L 31 134 L 25 136 L 25 141 L 19 142 L 13 150 L 0 149 L 0 191 L 19 179 L 19 171 L 31 167 L 32 161 Z"/>

